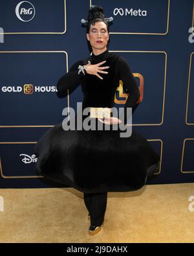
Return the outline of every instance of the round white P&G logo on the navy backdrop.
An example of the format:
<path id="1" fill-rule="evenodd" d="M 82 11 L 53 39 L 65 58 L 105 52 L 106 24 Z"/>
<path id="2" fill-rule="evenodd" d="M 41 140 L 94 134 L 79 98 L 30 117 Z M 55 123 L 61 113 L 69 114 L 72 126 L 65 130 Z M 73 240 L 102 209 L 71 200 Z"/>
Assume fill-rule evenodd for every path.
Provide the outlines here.
<path id="1" fill-rule="evenodd" d="M 35 16 L 34 5 L 28 1 L 19 2 L 16 6 L 16 16 L 21 21 L 31 21 Z"/>

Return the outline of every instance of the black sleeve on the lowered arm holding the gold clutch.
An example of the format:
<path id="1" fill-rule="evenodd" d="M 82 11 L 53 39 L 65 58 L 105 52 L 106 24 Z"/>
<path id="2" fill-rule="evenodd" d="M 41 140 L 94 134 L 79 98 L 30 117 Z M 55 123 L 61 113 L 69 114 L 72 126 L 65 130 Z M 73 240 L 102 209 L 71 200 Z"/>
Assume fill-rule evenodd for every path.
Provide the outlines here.
<path id="1" fill-rule="evenodd" d="M 138 85 L 136 83 L 135 77 L 131 72 L 129 64 L 125 58 L 119 56 L 116 61 L 116 73 L 118 78 L 123 82 L 123 88 L 125 93 L 129 93 L 127 100 L 124 106 L 124 117 L 125 121 L 127 122 L 127 108 L 133 108 L 136 105 L 137 100 L 140 98 L 140 91 L 138 89 Z M 133 111 L 132 111 L 133 112 Z"/>

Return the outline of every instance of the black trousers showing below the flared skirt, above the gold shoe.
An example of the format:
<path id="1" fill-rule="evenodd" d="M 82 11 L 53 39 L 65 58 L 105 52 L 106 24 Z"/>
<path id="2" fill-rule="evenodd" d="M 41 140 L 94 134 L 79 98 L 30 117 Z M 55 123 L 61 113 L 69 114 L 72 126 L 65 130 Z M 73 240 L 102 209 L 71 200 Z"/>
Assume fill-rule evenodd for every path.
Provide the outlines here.
<path id="1" fill-rule="evenodd" d="M 83 193 L 83 199 L 91 215 L 91 225 L 102 225 L 107 207 L 107 192 Z"/>

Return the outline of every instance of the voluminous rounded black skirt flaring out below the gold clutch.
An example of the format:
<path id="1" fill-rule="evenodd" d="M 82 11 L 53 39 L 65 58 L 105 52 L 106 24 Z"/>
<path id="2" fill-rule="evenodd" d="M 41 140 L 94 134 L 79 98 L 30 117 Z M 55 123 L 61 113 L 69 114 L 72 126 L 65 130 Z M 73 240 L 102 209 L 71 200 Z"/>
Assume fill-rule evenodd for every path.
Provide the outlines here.
<path id="1" fill-rule="evenodd" d="M 160 157 L 134 128 L 130 137 L 120 137 L 119 129 L 65 131 L 56 124 L 34 152 L 39 175 L 86 193 L 135 191 L 145 185 L 149 170 L 160 168 Z"/>

